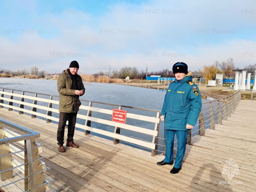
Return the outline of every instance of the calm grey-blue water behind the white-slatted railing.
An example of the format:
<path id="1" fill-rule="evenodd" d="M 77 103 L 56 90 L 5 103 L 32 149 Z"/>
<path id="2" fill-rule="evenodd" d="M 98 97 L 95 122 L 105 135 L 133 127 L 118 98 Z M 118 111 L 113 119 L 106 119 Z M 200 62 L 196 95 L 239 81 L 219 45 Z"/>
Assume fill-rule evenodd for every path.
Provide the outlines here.
<path id="1" fill-rule="evenodd" d="M 80 99 L 82 100 L 99 101 L 99 102 L 105 102 L 105 103 L 112 103 L 112 104 L 133 106 L 133 107 L 140 107 L 140 108 L 149 108 L 149 109 L 155 109 L 155 110 L 161 110 L 163 101 L 164 101 L 164 95 L 165 95 L 165 92 L 161 90 L 148 89 L 148 88 L 142 88 L 142 87 L 136 87 L 136 86 L 128 86 L 128 85 L 122 85 L 122 84 L 84 82 L 84 87 L 85 87 L 85 94 L 82 97 L 80 97 Z M 44 93 L 44 94 L 57 95 L 57 96 L 59 95 L 57 91 L 57 80 L 0 77 L 0 88 Z M 204 102 L 207 100 L 203 99 L 202 101 Z M 83 102 L 82 104 L 87 105 Z M 131 113 L 132 110 L 127 112 Z M 156 116 L 156 112 L 152 116 Z M 140 127 L 144 127 L 144 128 L 148 128 L 149 126 L 147 123 L 144 123 L 144 124 L 140 123 L 138 125 L 136 124 L 136 120 L 132 120 L 132 121 L 133 122 L 129 122 L 129 123 L 140 126 Z M 57 122 L 53 122 L 53 123 L 57 124 Z M 77 123 L 84 124 L 82 120 L 78 120 Z M 106 126 L 106 125 L 96 124 L 96 123 L 93 124 L 93 122 L 91 126 L 113 132 L 113 127 L 111 126 Z M 160 128 L 159 128 L 160 138 L 163 138 L 163 134 L 164 134 L 163 129 L 164 129 L 164 124 L 160 122 Z M 77 130 L 82 131 L 80 129 L 77 129 Z M 91 133 L 91 134 L 98 135 L 95 133 Z M 125 135 L 129 133 L 126 133 L 125 130 L 123 130 L 122 134 Z M 98 136 L 102 137 L 102 135 L 98 135 Z M 112 138 L 108 138 L 108 137 L 104 137 L 104 138 L 112 140 Z M 147 138 L 142 138 L 142 139 L 147 140 Z M 135 147 L 138 147 L 138 146 L 135 146 Z"/>

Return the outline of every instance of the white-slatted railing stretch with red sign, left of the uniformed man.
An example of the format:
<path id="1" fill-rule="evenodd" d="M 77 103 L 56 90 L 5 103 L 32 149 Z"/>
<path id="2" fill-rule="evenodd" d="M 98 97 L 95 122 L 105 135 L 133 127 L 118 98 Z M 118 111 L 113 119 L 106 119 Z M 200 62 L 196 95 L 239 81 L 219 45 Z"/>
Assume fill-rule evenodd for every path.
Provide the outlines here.
<path id="1" fill-rule="evenodd" d="M 158 143 L 159 110 L 82 99 L 80 101 L 82 105 L 77 114 L 76 128 L 84 130 L 86 135 L 92 132 L 101 137 L 113 138 L 114 144 L 123 142 L 150 149 L 152 156 L 157 154 L 155 143 Z M 47 123 L 59 122 L 59 96 L 55 95 L 2 88 L 0 108 L 28 114 L 31 118 L 45 119 Z M 113 109 L 127 111 L 125 124 L 113 121 Z"/>

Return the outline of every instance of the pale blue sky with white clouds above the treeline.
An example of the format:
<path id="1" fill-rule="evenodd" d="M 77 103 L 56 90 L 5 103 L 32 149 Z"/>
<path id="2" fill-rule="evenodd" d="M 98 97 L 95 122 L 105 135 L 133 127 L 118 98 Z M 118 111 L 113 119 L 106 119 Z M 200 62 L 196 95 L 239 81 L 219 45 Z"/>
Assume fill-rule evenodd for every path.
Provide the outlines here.
<path id="1" fill-rule="evenodd" d="M 255 0 L 0 0 L 0 69 L 85 74 L 256 63 Z"/>

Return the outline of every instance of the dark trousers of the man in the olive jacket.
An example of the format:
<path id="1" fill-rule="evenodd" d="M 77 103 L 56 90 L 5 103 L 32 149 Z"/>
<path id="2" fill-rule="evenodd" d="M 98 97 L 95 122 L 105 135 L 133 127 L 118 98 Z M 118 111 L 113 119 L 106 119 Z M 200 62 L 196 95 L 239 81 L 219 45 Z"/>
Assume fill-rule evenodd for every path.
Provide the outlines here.
<path id="1" fill-rule="evenodd" d="M 67 141 L 73 141 L 75 125 L 76 125 L 76 113 L 63 113 L 60 112 L 59 126 L 57 131 L 57 141 L 58 145 L 63 145 L 64 143 L 64 131 L 68 120 L 68 139 Z"/>

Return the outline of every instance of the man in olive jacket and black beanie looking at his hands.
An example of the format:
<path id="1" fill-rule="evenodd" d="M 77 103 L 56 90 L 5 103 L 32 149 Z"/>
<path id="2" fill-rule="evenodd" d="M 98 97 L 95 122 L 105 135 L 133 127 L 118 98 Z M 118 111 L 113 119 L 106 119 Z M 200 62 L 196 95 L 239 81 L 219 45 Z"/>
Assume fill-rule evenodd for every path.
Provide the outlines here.
<path id="1" fill-rule="evenodd" d="M 84 95 L 85 88 L 82 82 L 81 76 L 77 74 L 79 65 L 77 61 L 72 61 L 69 68 L 62 71 L 61 75 L 57 81 L 58 92 L 60 93 L 59 101 L 59 111 L 60 119 L 57 131 L 57 141 L 58 150 L 60 152 L 65 152 L 63 147 L 64 144 L 64 131 L 68 120 L 68 138 L 67 147 L 75 147 L 76 145 L 73 141 L 75 125 L 76 125 L 76 115 L 81 102 L 79 96 Z"/>

